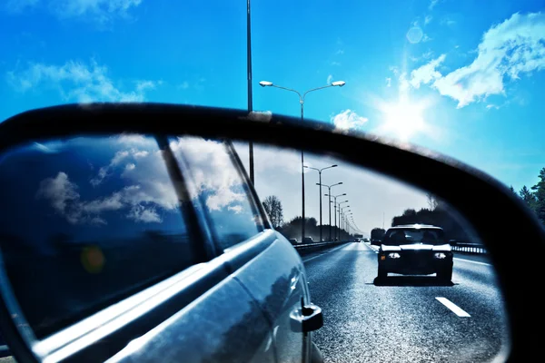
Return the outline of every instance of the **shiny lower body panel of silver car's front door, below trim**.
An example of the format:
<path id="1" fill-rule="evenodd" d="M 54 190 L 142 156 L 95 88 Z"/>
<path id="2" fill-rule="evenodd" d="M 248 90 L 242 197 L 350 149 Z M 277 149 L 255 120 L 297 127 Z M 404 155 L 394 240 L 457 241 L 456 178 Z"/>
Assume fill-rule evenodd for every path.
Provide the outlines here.
<path id="1" fill-rule="evenodd" d="M 134 339 L 108 362 L 275 362 L 269 322 L 233 277 Z"/>

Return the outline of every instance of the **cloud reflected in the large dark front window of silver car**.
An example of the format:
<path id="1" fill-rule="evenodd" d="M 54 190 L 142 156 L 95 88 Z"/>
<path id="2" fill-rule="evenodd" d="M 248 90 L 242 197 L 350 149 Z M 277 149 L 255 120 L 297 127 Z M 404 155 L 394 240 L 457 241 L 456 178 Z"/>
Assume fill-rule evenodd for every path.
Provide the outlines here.
<path id="1" fill-rule="evenodd" d="M 124 135 L 119 139 L 133 141 L 130 143 L 133 147 L 115 152 L 91 183 L 95 187 L 105 184 L 109 181 L 106 177 L 116 174 L 116 181 L 124 181 L 123 188 L 84 201 L 78 186 L 65 172 L 58 172 L 54 178 L 46 178 L 40 183 L 36 198 L 50 201 L 54 211 L 72 224 L 106 224 L 102 213 L 122 210 L 127 211 L 126 218 L 134 221 L 161 222 L 156 210 L 173 211 L 178 205 L 178 196 L 165 169 L 162 152 L 157 150 L 156 144 L 145 144 L 138 135 Z M 151 146 L 150 149 L 155 151 L 138 149 L 136 145 L 141 148 Z"/>

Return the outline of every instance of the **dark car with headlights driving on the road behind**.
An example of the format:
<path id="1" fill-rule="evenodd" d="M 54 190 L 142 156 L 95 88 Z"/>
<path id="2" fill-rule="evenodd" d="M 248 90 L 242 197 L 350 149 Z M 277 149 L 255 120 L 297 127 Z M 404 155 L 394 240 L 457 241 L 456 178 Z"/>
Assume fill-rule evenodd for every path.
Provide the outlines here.
<path id="1" fill-rule="evenodd" d="M 389 272 L 403 275 L 437 274 L 452 278 L 451 245 L 440 227 L 411 224 L 392 227 L 384 234 L 378 254 L 378 278 Z"/>

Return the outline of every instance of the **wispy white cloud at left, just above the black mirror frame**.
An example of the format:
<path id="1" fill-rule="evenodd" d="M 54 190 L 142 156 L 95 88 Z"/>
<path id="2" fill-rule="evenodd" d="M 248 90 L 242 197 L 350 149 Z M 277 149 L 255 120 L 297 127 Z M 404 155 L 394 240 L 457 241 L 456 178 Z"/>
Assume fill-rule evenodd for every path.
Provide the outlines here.
<path id="1" fill-rule="evenodd" d="M 39 86 L 57 90 L 64 100 L 89 102 L 143 102 L 145 90 L 154 88 L 152 81 L 141 81 L 133 91 L 116 88 L 104 65 L 68 61 L 63 65 L 29 64 L 21 72 L 8 72 L 8 82 L 17 91 L 27 92 Z"/>

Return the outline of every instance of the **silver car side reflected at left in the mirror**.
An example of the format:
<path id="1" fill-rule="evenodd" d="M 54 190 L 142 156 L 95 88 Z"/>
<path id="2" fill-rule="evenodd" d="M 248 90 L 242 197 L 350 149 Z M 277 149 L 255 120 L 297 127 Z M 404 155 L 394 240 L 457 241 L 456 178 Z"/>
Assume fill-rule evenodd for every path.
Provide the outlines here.
<path id="1" fill-rule="evenodd" d="M 321 361 L 301 257 L 231 143 L 78 136 L 3 156 L 0 250 L 35 361 Z"/>

